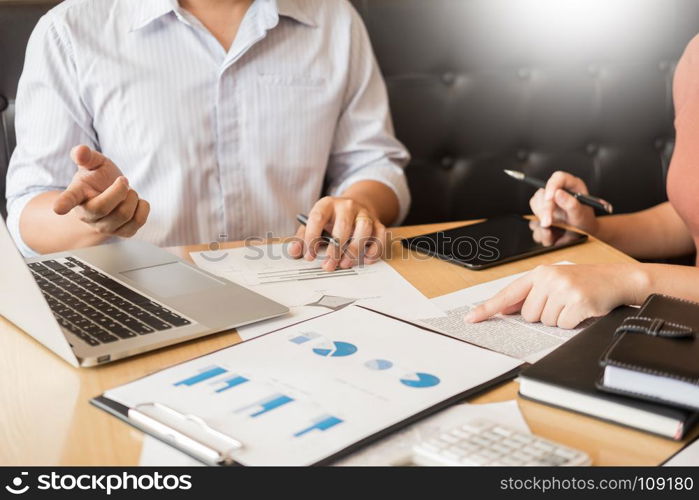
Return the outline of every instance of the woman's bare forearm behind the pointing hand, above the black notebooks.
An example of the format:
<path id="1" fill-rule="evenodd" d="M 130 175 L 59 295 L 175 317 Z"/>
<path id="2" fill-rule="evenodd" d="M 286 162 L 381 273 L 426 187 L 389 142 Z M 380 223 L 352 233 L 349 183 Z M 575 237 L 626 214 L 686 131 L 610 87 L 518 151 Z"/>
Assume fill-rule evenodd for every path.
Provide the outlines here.
<path id="1" fill-rule="evenodd" d="M 633 302 L 640 305 L 652 293 L 699 302 L 699 268 L 669 264 L 637 264 L 630 277 L 637 291 Z"/>

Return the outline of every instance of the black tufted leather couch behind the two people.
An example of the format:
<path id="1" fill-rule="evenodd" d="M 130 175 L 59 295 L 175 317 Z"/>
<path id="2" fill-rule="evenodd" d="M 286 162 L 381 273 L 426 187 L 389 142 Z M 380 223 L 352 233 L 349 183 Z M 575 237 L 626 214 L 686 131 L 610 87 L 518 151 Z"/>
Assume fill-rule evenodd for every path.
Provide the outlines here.
<path id="1" fill-rule="evenodd" d="M 53 3 L 0 1 L 3 193 L 26 40 Z M 665 199 L 672 75 L 699 1 L 353 3 L 413 155 L 408 223 L 527 212 L 531 188 L 504 168 L 571 171 L 623 212 Z"/>

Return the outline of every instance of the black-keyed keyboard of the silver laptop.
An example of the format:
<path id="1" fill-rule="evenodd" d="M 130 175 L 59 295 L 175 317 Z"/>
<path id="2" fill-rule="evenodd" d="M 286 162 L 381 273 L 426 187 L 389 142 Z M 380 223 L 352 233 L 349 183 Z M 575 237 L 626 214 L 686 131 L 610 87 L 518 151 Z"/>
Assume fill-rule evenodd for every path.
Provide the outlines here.
<path id="1" fill-rule="evenodd" d="M 29 269 L 58 323 L 91 346 L 191 323 L 74 257 L 59 260 Z"/>

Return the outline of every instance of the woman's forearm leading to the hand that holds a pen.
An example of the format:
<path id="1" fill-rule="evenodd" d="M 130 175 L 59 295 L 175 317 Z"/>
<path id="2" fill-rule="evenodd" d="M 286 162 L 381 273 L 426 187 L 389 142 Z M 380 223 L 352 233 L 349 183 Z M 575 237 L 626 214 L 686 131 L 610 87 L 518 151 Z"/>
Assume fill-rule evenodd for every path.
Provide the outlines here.
<path id="1" fill-rule="evenodd" d="M 670 203 L 597 220 L 597 238 L 636 258 L 680 257 L 695 250 L 689 230 Z"/>

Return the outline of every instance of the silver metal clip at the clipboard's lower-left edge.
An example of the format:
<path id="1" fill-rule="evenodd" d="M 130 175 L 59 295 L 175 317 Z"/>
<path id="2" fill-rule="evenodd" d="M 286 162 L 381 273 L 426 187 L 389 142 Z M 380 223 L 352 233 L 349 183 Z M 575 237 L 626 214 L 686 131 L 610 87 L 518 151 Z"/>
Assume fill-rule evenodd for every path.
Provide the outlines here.
<path id="1" fill-rule="evenodd" d="M 129 408 L 128 418 L 145 432 L 209 465 L 235 465 L 243 443 L 211 427 L 203 418 L 162 403 Z"/>

